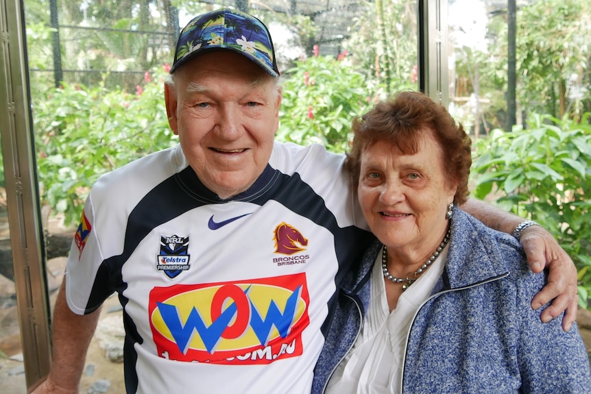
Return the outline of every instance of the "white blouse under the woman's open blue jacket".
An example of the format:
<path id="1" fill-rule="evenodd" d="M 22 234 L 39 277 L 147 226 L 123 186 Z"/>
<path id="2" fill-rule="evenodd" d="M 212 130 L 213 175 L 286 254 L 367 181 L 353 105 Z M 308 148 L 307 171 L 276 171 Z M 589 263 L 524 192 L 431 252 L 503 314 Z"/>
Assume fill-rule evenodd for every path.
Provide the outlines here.
<path id="1" fill-rule="evenodd" d="M 405 292 L 389 312 L 378 253 L 371 278 L 371 299 L 363 327 L 350 352 L 328 382 L 328 394 L 399 394 L 402 389 L 402 358 L 411 320 L 429 297 L 443 273 L 448 247 Z"/>

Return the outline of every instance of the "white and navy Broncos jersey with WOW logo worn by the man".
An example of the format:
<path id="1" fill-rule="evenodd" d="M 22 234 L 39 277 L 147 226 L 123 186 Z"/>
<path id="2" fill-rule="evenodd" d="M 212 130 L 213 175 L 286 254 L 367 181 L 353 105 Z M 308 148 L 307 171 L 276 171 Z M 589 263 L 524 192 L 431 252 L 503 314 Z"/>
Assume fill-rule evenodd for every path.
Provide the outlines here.
<path id="1" fill-rule="evenodd" d="M 82 315 L 119 293 L 128 393 L 309 393 L 337 284 L 372 239 L 343 160 L 276 143 L 226 200 L 180 146 L 97 181 L 67 300 Z"/>

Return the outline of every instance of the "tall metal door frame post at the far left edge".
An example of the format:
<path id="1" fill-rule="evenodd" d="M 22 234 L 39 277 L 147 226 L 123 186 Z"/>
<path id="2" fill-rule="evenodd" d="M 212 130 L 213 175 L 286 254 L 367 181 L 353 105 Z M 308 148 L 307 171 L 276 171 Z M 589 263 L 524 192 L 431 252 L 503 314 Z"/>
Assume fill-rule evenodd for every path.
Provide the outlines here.
<path id="1" fill-rule="evenodd" d="M 49 373 L 49 297 L 30 112 L 24 5 L 0 0 L 0 141 L 27 389 Z"/>

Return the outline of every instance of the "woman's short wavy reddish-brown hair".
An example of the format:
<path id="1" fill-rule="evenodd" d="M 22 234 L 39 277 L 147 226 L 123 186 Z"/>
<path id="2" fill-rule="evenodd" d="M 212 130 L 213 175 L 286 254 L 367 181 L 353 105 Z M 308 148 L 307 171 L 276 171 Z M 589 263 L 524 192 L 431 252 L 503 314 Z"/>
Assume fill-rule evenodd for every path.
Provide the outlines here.
<path id="1" fill-rule="evenodd" d="M 472 141 L 461 124 L 456 123 L 446 108 L 423 93 L 405 91 L 393 99 L 381 101 L 352 122 L 353 143 L 345 164 L 353 185 L 359 183 L 361 153 L 382 140 L 400 151 L 415 153 L 424 132 L 432 132 L 442 151 L 442 168 L 446 179 L 457 182 L 454 201 L 463 204 L 468 198 L 468 177 L 472 165 Z"/>

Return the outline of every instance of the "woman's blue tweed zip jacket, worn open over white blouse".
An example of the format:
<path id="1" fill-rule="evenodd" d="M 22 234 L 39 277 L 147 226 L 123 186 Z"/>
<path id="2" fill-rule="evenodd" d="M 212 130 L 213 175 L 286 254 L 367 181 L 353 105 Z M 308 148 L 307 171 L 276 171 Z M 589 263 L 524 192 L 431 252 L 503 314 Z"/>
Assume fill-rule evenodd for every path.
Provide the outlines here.
<path id="1" fill-rule="evenodd" d="M 345 278 L 315 368 L 322 393 L 359 332 L 370 295 L 376 241 Z M 544 286 L 519 243 L 455 209 L 448 260 L 407 340 L 403 393 L 591 393 L 589 359 L 577 325 L 540 322 L 531 299 Z"/>

